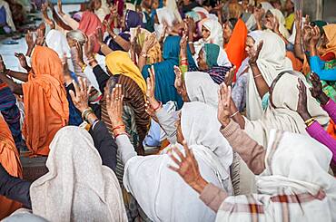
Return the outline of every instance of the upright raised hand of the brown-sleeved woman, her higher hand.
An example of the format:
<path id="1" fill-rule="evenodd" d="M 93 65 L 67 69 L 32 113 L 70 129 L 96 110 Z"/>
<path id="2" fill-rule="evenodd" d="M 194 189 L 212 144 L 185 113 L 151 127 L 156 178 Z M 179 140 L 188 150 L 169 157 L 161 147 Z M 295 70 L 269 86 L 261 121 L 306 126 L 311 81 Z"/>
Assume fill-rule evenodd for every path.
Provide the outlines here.
<path id="1" fill-rule="evenodd" d="M 230 105 L 231 105 L 231 86 L 227 87 L 225 83 L 220 85 L 218 91 L 218 113 L 217 119 L 222 126 L 227 126 L 230 122 Z"/>

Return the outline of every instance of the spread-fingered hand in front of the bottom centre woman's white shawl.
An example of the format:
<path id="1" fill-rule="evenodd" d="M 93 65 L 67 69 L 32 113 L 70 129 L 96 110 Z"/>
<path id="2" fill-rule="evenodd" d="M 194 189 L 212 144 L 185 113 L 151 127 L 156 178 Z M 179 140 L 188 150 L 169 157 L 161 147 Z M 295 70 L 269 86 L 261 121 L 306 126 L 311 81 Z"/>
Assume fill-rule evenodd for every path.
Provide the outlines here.
<path id="1" fill-rule="evenodd" d="M 183 180 L 198 193 L 202 193 L 203 189 L 208 183 L 201 176 L 197 160 L 193 156 L 193 150 L 188 148 L 186 141 L 183 141 L 183 148 L 185 151 L 185 156 L 180 150 L 177 149 L 176 146 L 172 146 L 172 153 L 170 153 L 169 156 L 171 159 L 173 159 L 173 162 L 177 165 L 177 167 L 170 165 L 168 168 L 177 172 L 183 178 Z M 175 156 L 179 159 L 177 159 Z"/>

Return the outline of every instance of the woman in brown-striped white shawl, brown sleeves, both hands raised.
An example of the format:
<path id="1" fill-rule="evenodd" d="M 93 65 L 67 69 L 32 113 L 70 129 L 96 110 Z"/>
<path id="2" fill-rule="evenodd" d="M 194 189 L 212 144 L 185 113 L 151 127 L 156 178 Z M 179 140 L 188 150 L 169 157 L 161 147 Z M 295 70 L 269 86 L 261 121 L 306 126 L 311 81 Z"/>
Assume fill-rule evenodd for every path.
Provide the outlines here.
<path id="1" fill-rule="evenodd" d="M 228 93 L 229 91 L 229 93 Z M 216 221 L 335 221 L 336 180 L 328 174 L 331 151 L 311 138 L 272 130 L 266 150 L 230 120 L 230 89 L 222 87 L 218 118 L 222 135 L 257 177 L 257 192 L 230 196 L 203 179 L 193 150 L 176 151 L 173 170 L 217 212 Z M 175 150 L 174 150 L 175 151 Z M 304 157 L 302 157 L 304 153 Z"/>

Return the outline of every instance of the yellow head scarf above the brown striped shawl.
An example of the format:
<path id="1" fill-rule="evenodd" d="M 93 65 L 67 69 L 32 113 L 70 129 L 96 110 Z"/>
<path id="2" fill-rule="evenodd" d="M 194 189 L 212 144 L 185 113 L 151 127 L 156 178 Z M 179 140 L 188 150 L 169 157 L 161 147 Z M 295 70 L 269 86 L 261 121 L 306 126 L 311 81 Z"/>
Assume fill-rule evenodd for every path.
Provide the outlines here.
<path id="1" fill-rule="evenodd" d="M 146 82 L 138 67 L 133 63 L 128 53 L 114 51 L 105 57 L 108 70 L 113 74 L 122 74 L 131 78 L 146 93 Z"/>

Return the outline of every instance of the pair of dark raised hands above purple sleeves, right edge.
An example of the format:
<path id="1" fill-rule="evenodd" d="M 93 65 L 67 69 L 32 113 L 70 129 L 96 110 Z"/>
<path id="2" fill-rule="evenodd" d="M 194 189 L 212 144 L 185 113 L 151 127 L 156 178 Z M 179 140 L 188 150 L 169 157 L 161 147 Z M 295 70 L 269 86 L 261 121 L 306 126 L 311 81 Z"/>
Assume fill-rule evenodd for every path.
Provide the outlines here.
<path id="1" fill-rule="evenodd" d="M 320 101 L 321 105 L 327 104 L 329 97 L 322 91 L 322 85 L 319 76 L 316 73 L 311 72 L 310 81 L 312 84 L 312 87 L 310 88 L 312 97 Z M 311 115 L 307 107 L 307 87 L 305 86 L 304 82 L 301 81 L 301 79 L 299 79 L 298 82 L 299 100 L 297 112 L 303 121 L 307 121 L 311 119 Z"/>

